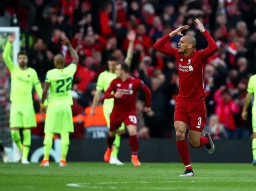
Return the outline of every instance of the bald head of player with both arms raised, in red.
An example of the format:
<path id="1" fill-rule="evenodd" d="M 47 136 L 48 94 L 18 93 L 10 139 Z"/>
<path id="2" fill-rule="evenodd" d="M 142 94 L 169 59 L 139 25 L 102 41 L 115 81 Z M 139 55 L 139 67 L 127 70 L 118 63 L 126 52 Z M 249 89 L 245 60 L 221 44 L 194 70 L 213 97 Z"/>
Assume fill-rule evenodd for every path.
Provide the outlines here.
<path id="1" fill-rule="evenodd" d="M 180 39 L 178 44 L 179 53 L 189 55 L 194 48 L 196 48 L 197 41 L 196 38 L 192 35 L 185 35 Z"/>

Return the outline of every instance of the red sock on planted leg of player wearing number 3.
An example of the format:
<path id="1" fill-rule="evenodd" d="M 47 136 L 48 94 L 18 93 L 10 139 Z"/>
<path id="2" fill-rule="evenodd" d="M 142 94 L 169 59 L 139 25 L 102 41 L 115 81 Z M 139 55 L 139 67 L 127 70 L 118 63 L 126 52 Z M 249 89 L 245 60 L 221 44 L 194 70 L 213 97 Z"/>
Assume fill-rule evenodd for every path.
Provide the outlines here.
<path id="1" fill-rule="evenodd" d="M 190 164 L 190 151 L 188 150 L 187 142 L 186 140 L 182 141 L 176 141 L 177 149 L 180 154 L 181 161 L 186 167 L 186 170 L 192 169 Z"/>

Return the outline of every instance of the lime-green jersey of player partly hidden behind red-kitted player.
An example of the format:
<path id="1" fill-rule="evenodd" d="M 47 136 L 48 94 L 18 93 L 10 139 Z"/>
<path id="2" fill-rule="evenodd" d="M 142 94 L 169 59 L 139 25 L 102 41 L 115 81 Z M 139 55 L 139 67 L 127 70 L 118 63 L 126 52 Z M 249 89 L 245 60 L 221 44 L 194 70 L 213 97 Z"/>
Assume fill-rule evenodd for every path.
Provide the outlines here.
<path id="1" fill-rule="evenodd" d="M 108 71 L 100 73 L 99 78 L 97 80 L 96 89 L 105 92 L 107 90 L 108 86 L 110 85 L 111 81 L 115 78 L 117 78 L 117 74 L 115 74 L 115 73 L 110 73 Z M 105 99 L 103 104 L 104 105 L 106 105 L 106 104 L 113 105 L 114 99 L 113 98 Z"/>

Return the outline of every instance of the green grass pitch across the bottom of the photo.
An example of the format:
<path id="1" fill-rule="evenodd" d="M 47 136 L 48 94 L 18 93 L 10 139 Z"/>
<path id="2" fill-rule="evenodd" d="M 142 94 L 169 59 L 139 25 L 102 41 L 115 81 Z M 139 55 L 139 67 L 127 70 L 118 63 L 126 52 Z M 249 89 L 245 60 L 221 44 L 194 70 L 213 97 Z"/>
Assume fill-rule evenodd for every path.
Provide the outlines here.
<path id="1" fill-rule="evenodd" d="M 0 163 L 1 191 L 175 190 L 254 191 L 256 167 L 250 164 L 193 164 L 194 177 L 179 177 L 180 163 L 68 163 L 68 167 Z"/>

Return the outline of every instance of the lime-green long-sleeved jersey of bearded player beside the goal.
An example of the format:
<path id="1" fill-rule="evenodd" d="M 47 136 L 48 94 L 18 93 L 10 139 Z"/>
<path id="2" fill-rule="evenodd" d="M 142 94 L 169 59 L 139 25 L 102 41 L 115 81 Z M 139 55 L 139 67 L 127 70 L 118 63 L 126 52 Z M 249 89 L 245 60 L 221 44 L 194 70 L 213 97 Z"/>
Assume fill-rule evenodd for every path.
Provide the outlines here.
<path id="1" fill-rule="evenodd" d="M 3 60 L 11 73 L 11 103 L 33 103 L 32 90 L 35 87 L 36 93 L 41 98 L 42 87 L 33 68 L 21 69 L 14 65 L 11 60 L 12 43 L 7 43 L 4 52 Z"/>

